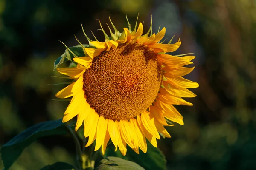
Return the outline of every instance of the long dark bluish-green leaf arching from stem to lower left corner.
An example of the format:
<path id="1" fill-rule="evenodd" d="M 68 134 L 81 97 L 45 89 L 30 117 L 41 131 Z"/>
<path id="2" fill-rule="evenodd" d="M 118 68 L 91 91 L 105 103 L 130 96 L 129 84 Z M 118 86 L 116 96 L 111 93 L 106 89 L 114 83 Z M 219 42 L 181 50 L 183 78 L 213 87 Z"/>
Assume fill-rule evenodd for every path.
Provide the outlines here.
<path id="1" fill-rule="evenodd" d="M 66 134 L 66 127 L 62 119 L 41 122 L 24 130 L 9 142 L 3 145 L 0 150 L 5 169 L 9 169 L 13 162 L 20 156 L 23 149 L 36 139 L 43 136 Z"/>

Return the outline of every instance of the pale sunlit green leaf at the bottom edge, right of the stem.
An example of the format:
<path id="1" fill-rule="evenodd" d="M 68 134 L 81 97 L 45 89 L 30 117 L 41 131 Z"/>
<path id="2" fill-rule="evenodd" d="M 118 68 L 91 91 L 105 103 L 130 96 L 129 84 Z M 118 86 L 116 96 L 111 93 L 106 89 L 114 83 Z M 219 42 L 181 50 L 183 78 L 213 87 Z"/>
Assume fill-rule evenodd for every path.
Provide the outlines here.
<path id="1" fill-rule="evenodd" d="M 118 157 L 109 156 L 99 162 L 95 170 L 145 170 L 140 165 Z"/>

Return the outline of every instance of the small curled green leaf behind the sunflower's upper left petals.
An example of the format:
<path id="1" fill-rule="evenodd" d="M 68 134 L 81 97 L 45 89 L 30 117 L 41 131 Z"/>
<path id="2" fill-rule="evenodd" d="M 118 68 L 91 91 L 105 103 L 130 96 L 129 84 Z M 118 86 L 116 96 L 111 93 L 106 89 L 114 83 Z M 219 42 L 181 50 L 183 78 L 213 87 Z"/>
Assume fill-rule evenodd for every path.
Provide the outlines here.
<path id="1" fill-rule="evenodd" d="M 88 44 L 83 44 L 83 46 L 85 48 L 88 48 L 90 47 Z M 93 47 L 92 47 L 93 48 Z M 69 49 L 74 53 L 76 54 L 76 56 L 78 57 L 84 57 L 85 54 L 84 54 L 84 50 L 83 50 L 83 47 L 81 45 L 76 45 L 76 46 L 73 46 L 73 47 L 69 47 Z M 68 50 L 66 49 L 65 52 L 60 56 L 58 57 L 55 62 L 54 62 L 54 68 L 53 68 L 53 71 L 58 67 L 58 65 L 61 65 L 62 63 L 66 62 L 66 61 L 73 61 L 72 59 L 74 58 L 75 56 Z"/>

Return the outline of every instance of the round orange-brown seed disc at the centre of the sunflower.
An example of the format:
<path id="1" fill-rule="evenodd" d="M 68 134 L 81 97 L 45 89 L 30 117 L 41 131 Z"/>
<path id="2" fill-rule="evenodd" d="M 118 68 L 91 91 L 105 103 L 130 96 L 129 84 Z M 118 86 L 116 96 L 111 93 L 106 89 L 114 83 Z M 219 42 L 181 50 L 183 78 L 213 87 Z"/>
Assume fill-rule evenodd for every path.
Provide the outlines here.
<path id="1" fill-rule="evenodd" d="M 105 119 L 131 119 L 156 99 L 162 71 L 157 55 L 131 40 L 103 51 L 83 74 L 87 102 Z"/>

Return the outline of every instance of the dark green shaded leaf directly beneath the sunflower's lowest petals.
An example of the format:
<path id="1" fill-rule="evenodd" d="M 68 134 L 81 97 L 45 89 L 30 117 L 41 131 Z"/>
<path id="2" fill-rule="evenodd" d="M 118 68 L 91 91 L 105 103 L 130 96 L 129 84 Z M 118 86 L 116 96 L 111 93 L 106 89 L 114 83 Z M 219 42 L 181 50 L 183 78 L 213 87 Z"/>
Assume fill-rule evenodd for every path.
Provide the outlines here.
<path id="1" fill-rule="evenodd" d="M 147 144 L 147 152 L 143 153 L 140 150 L 139 155 L 127 146 L 126 156 L 122 156 L 122 153 L 119 150 L 114 152 L 115 148 L 110 146 L 107 147 L 104 157 L 118 156 L 129 161 L 134 161 L 146 170 L 166 170 L 166 159 L 162 151 L 152 146 L 149 142 L 147 142 Z"/>

